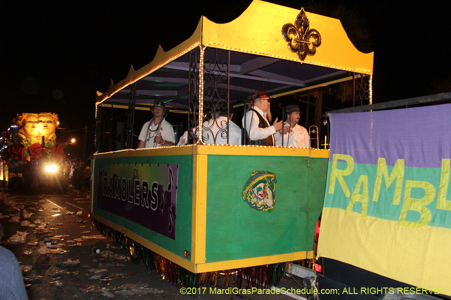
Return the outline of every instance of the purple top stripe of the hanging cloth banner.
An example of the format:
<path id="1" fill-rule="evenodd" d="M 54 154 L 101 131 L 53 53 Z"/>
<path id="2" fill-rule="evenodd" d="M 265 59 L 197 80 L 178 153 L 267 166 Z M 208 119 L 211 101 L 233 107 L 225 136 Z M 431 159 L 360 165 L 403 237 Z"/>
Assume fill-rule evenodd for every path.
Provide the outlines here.
<path id="1" fill-rule="evenodd" d="M 329 159 L 339 153 L 351 155 L 356 163 L 377 164 L 384 157 L 387 165 L 394 165 L 401 158 L 405 166 L 439 168 L 451 153 L 451 134 L 445 133 L 450 114 L 451 104 L 331 113 Z"/>

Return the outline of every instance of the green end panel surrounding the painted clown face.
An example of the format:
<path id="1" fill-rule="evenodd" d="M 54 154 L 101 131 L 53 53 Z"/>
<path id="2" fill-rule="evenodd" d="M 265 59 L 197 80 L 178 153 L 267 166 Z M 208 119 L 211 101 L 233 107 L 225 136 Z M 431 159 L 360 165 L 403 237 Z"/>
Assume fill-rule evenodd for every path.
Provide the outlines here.
<path id="1" fill-rule="evenodd" d="M 327 160 L 208 155 L 205 262 L 313 250 Z M 259 211 L 243 200 L 254 170 L 276 174 L 272 210 Z"/>

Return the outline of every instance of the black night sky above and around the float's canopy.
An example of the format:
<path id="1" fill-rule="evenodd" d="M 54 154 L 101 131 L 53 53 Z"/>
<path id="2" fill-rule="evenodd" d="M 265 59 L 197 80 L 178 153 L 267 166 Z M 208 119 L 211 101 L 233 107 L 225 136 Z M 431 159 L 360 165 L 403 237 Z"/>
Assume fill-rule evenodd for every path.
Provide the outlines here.
<path id="1" fill-rule="evenodd" d="M 270 2 L 297 9 L 310 3 Z M 451 75 L 446 2 L 342 1 L 368 24 L 373 102 L 434 93 L 431 83 Z M 0 2 L 0 131 L 22 112 L 55 112 L 69 129 L 94 125 L 96 90 L 122 80 L 130 64 L 139 69 L 149 63 L 158 44 L 168 50 L 188 38 L 201 15 L 228 22 L 251 1 L 118 3 Z"/>

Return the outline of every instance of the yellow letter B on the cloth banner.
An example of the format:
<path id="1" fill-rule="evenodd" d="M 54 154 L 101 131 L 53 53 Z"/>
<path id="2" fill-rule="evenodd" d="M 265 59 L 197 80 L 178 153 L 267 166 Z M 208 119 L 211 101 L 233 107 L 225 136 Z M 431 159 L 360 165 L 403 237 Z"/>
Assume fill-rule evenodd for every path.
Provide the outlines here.
<path id="1" fill-rule="evenodd" d="M 412 187 L 421 187 L 424 189 L 425 194 L 421 199 L 416 199 L 410 197 L 410 192 Z M 398 225 L 408 226 L 408 227 L 422 227 L 429 223 L 431 214 L 429 209 L 424 207 L 424 205 L 432 202 L 435 196 L 435 187 L 426 181 L 414 181 L 406 180 L 404 189 L 404 200 L 402 201 L 401 214 L 399 215 Z M 420 219 L 416 222 L 409 222 L 405 220 L 407 215 L 407 210 L 415 210 L 420 213 Z"/>

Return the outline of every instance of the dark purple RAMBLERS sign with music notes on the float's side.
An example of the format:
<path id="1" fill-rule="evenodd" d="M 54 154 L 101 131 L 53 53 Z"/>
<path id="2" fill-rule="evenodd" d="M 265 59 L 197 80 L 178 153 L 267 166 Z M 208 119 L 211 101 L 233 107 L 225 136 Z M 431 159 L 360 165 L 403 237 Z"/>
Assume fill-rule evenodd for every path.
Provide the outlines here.
<path id="1" fill-rule="evenodd" d="M 100 164 L 97 207 L 175 239 L 177 164 Z"/>

